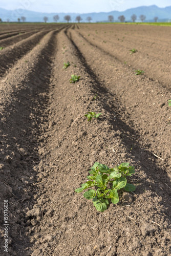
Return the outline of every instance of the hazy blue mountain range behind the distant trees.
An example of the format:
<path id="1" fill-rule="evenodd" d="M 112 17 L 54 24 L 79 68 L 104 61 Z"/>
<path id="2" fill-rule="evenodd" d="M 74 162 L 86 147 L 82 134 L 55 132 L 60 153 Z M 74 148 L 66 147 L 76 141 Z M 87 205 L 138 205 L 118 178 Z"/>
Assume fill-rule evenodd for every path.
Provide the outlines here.
<path id="1" fill-rule="evenodd" d="M 48 17 L 48 22 L 54 22 L 53 16 L 58 14 L 59 20 L 58 22 L 64 22 L 64 16 L 70 15 L 71 16 L 71 22 L 75 22 L 76 16 L 80 15 L 82 18 L 82 22 L 87 22 L 86 18 L 88 16 L 92 17 L 92 22 L 107 22 L 108 16 L 113 15 L 115 22 L 118 21 L 118 16 L 124 15 L 125 21 L 129 22 L 131 21 L 131 16 L 133 14 L 137 15 L 136 22 L 139 22 L 139 16 L 141 14 L 146 16 L 145 22 L 153 22 L 154 17 L 157 16 L 159 18 L 158 21 L 160 22 L 167 22 L 171 21 L 171 6 L 165 7 L 165 8 L 159 8 L 156 5 L 152 6 L 141 6 L 137 8 L 128 9 L 124 12 L 119 11 L 112 11 L 112 12 L 99 12 L 99 13 L 41 13 L 41 12 L 33 12 L 28 10 L 6 10 L 3 8 L 0 8 L 0 18 L 2 18 L 3 22 L 6 22 L 8 19 L 10 22 L 17 22 L 17 18 L 20 18 L 21 16 L 26 17 L 26 22 L 43 22 L 43 18 L 45 16 Z"/>

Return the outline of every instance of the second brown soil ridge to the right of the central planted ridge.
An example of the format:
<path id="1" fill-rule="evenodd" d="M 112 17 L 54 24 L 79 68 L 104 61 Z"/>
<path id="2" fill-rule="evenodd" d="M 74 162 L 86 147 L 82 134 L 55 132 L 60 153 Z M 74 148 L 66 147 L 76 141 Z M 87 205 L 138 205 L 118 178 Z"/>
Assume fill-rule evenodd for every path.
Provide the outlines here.
<path id="1" fill-rule="evenodd" d="M 139 37 L 139 40 L 135 40 L 132 38 L 132 41 L 127 42 L 127 39 L 118 38 L 118 41 L 114 38 L 114 35 L 103 36 L 100 34 L 96 35 L 95 33 L 91 36 L 88 36 L 84 29 L 80 32 L 80 35 L 86 40 L 88 40 L 91 45 L 98 47 L 100 50 L 103 50 L 106 54 L 110 54 L 111 56 L 117 58 L 120 62 L 126 63 L 126 66 L 131 67 L 134 70 L 140 69 L 145 72 L 148 77 L 151 77 L 154 80 L 158 80 L 163 87 L 170 89 L 170 63 L 167 60 L 167 51 L 159 51 L 163 45 L 160 44 L 157 49 L 156 40 L 153 42 L 154 44 L 149 43 L 149 47 L 147 47 L 146 41 L 148 37 L 145 38 L 145 43 L 141 42 L 140 39 L 143 37 Z M 110 39 L 109 39 L 110 38 Z M 165 48 L 168 49 L 168 54 L 170 54 L 169 42 L 165 42 Z M 154 48 L 152 48 L 154 46 Z M 137 49 L 138 52 L 130 55 L 131 49 Z"/>

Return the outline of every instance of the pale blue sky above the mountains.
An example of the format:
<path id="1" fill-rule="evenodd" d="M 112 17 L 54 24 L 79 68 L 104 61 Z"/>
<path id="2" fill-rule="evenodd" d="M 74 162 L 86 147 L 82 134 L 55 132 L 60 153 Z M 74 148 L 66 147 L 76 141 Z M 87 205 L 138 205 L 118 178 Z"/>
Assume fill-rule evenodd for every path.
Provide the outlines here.
<path id="1" fill-rule="evenodd" d="M 7 10 L 27 9 L 48 13 L 90 13 L 125 11 L 139 6 L 171 6 L 171 0 L 0 0 L 0 7 Z"/>

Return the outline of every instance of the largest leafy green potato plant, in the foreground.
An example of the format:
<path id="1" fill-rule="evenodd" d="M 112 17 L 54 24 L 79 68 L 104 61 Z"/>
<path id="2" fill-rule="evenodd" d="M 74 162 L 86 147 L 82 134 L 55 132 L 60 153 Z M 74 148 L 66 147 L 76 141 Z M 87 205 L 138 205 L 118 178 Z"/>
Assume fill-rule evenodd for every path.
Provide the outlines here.
<path id="1" fill-rule="evenodd" d="M 109 168 L 104 164 L 95 162 L 91 167 L 90 174 L 86 183 L 75 190 L 76 193 L 82 192 L 84 189 L 98 187 L 97 190 L 89 189 L 83 194 L 88 200 L 93 200 L 93 204 L 98 211 L 104 211 L 110 204 L 119 202 L 118 190 L 124 188 L 125 191 L 135 191 L 136 186 L 127 183 L 126 177 L 135 173 L 133 166 L 129 167 L 129 163 L 121 163 L 114 168 Z"/>

